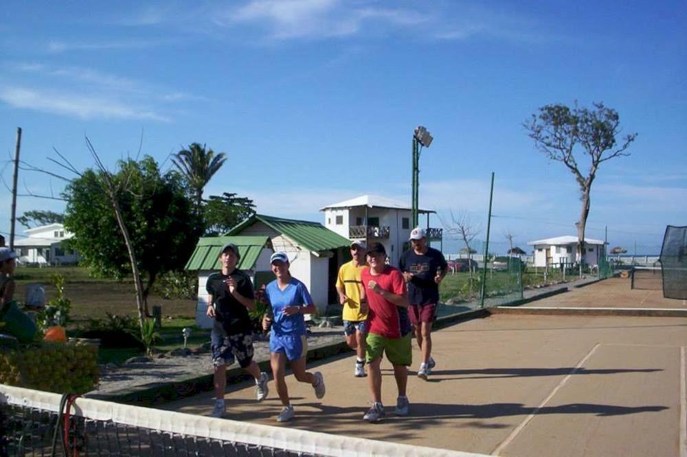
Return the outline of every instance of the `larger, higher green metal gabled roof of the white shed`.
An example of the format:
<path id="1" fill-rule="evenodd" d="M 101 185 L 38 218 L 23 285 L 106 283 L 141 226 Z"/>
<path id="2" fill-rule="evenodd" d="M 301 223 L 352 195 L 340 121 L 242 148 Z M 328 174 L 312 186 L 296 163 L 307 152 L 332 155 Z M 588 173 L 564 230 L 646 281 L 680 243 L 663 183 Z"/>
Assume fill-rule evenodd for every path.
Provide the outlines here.
<path id="1" fill-rule="evenodd" d="M 330 231 L 319 222 L 273 218 L 272 216 L 256 214 L 230 230 L 227 235 L 238 235 L 256 222 L 262 222 L 271 229 L 293 239 L 304 248 L 322 253 L 330 249 L 343 248 L 350 245 L 350 240 L 338 233 Z"/>

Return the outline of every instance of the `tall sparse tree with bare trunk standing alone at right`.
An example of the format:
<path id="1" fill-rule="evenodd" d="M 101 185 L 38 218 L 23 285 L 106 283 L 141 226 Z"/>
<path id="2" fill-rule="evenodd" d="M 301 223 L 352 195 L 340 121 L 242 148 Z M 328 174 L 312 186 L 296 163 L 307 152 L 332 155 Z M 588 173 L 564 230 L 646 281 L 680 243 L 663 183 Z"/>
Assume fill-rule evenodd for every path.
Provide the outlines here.
<path id="1" fill-rule="evenodd" d="M 636 133 L 622 137 L 620 143 L 620 116 L 616 110 L 601 102 L 594 109 L 569 108 L 563 104 L 546 105 L 539 114 L 523 123 L 534 146 L 552 161 L 562 162 L 575 177 L 580 190 L 582 209 L 577 227 L 578 261 L 582 263 L 585 251 L 585 227 L 589 216 L 589 196 L 592 183 L 601 163 L 615 157 L 629 156 L 625 152 L 637 138 Z M 581 152 L 578 152 L 581 151 Z M 581 169 L 587 167 L 586 174 Z"/>

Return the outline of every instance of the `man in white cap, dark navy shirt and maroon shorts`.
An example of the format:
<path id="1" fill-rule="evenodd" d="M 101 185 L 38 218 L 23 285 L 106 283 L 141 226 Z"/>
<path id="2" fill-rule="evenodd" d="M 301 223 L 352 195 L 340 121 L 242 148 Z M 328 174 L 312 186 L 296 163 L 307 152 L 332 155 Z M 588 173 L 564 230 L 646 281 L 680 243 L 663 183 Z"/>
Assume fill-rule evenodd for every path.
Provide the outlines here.
<path id="1" fill-rule="evenodd" d="M 427 235 L 417 227 L 410 233 L 412 247 L 401 255 L 398 268 L 408 286 L 408 314 L 422 358 L 418 376 L 427 379 L 436 362 L 431 358 L 431 325 L 439 303 L 439 283 L 447 273 L 444 255 L 427 246 Z"/>

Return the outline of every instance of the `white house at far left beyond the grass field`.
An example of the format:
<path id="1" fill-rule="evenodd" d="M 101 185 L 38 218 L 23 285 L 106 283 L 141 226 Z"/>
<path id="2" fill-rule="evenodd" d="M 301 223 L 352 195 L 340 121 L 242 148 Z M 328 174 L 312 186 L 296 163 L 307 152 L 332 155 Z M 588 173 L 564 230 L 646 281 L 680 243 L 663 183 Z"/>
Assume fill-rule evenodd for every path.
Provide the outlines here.
<path id="1" fill-rule="evenodd" d="M 27 237 L 14 242 L 14 250 L 19 255 L 21 263 L 37 263 L 38 265 L 60 265 L 76 263 L 78 253 L 65 248 L 65 239 L 74 236 L 65 231 L 63 224 L 48 224 L 34 229 L 25 230 Z"/>

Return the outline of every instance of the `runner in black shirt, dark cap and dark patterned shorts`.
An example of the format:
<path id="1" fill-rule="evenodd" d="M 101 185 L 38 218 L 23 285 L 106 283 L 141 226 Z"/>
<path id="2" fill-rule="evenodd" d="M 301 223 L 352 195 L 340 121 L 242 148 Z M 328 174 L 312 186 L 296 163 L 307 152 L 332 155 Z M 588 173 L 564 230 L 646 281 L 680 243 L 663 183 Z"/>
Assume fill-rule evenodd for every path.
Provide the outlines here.
<path id="1" fill-rule="evenodd" d="M 219 255 L 222 270 L 207 277 L 205 288 L 210 294 L 207 300 L 207 316 L 214 318 L 210 340 L 214 365 L 214 389 L 216 402 L 212 417 L 225 413 L 224 392 L 227 387 L 227 365 L 238 364 L 256 380 L 256 398 L 267 398 L 267 373 L 253 360 L 253 330 L 248 309 L 253 309 L 253 283 L 245 272 L 236 266 L 240 259 L 238 248 L 229 243 Z"/>

